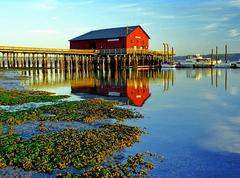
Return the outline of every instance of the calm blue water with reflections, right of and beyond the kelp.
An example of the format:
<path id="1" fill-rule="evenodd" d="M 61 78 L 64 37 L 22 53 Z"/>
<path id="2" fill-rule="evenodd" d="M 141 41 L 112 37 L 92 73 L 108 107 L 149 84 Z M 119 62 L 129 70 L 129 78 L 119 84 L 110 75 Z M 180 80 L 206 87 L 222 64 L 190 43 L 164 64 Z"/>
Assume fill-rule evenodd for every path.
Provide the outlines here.
<path id="1" fill-rule="evenodd" d="M 240 70 L 181 69 L 60 73 L 24 71 L 21 85 L 69 94 L 72 100 L 122 101 L 145 118 L 125 122 L 145 128 L 126 155 L 149 150 L 151 177 L 240 176 Z M 109 96 L 111 95 L 111 96 Z"/>

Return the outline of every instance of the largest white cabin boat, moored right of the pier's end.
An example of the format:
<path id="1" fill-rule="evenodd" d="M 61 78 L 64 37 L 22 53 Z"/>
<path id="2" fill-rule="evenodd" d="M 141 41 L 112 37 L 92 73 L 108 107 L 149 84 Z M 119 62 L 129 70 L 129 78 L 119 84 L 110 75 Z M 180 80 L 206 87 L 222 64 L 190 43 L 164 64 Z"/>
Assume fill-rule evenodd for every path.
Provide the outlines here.
<path id="1" fill-rule="evenodd" d="M 211 67 L 214 64 L 220 64 L 222 63 L 221 60 L 211 60 L 211 58 L 204 58 L 200 54 L 195 54 L 193 56 L 189 56 L 184 62 L 180 63 L 181 67 L 186 68 L 205 68 L 205 67 Z"/>

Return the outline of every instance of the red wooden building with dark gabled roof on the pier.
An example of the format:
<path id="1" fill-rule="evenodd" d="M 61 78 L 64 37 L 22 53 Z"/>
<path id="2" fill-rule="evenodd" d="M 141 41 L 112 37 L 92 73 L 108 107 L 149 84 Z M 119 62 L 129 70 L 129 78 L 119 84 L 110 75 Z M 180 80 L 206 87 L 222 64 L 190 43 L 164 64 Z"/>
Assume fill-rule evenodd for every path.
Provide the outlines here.
<path id="1" fill-rule="evenodd" d="M 70 49 L 148 49 L 149 39 L 138 25 L 90 31 L 69 41 Z"/>

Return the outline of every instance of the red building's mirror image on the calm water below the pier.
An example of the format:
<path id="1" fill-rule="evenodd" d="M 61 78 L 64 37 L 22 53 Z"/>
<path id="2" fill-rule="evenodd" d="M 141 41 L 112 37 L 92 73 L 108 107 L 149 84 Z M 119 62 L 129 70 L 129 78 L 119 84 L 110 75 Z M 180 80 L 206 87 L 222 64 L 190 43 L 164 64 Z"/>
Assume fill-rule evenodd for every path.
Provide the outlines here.
<path id="1" fill-rule="evenodd" d="M 100 96 L 114 96 L 116 99 L 128 98 L 135 106 L 143 106 L 149 98 L 148 79 L 128 79 L 127 82 L 99 81 L 97 79 L 83 79 L 71 82 L 72 93 L 89 93 Z M 120 99 L 119 98 L 119 99 Z"/>

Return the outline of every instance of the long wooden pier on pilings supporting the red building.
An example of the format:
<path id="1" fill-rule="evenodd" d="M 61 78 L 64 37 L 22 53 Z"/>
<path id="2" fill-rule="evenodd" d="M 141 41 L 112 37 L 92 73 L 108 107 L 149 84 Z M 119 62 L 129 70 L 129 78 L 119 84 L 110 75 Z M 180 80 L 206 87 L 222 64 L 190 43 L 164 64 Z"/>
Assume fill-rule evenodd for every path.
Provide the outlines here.
<path id="1" fill-rule="evenodd" d="M 0 68 L 101 69 L 128 67 L 160 67 L 172 61 L 176 52 L 135 49 L 79 50 L 0 46 Z"/>

